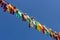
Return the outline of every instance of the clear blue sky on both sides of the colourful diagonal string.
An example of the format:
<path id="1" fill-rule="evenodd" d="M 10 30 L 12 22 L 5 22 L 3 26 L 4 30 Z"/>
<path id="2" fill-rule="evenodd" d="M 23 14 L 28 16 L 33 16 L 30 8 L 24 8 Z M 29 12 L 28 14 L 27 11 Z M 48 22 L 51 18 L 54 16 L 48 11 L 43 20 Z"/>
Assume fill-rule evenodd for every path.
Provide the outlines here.
<path id="1" fill-rule="evenodd" d="M 41 24 L 60 31 L 60 0 L 6 0 L 19 10 L 34 16 Z M 28 23 L 0 8 L 0 40 L 54 40 L 48 35 L 28 28 Z"/>

